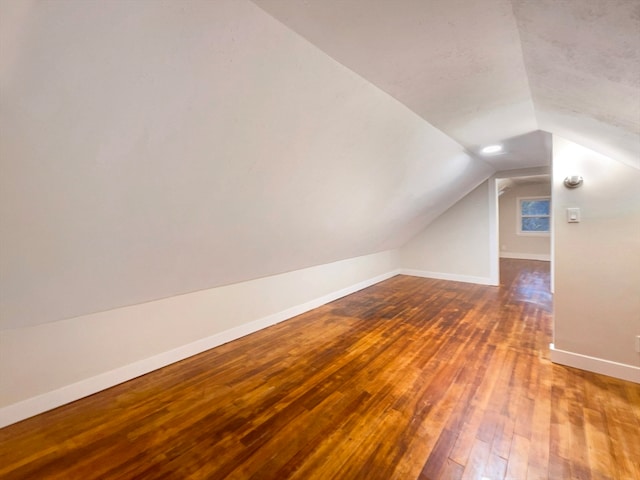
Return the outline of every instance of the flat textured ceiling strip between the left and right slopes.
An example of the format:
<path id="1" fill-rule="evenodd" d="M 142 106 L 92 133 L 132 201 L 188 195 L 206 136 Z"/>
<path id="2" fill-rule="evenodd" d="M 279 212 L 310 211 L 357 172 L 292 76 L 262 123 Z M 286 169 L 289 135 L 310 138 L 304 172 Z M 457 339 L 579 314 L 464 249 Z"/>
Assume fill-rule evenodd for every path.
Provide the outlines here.
<path id="1" fill-rule="evenodd" d="M 471 150 L 537 130 L 509 0 L 255 3 Z"/>

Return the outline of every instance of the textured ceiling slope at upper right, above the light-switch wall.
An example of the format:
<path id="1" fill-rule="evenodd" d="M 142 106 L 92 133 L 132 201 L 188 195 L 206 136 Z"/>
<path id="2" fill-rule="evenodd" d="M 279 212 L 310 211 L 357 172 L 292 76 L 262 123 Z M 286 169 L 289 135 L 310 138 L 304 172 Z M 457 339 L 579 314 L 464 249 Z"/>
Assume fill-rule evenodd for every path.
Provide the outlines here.
<path id="1" fill-rule="evenodd" d="M 640 168 L 640 2 L 513 6 L 539 128 Z"/>

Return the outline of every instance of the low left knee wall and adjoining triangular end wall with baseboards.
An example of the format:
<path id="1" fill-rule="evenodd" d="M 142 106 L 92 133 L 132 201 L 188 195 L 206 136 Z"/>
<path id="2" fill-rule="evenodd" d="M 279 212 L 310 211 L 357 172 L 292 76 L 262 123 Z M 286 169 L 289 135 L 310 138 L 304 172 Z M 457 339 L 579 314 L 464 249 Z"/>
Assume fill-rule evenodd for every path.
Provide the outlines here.
<path id="1" fill-rule="evenodd" d="M 91 395 L 400 273 L 495 285 L 489 255 L 491 229 L 483 220 L 491 209 L 489 184 L 482 182 L 399 250 L 3 329 L 0 426 Z"/>

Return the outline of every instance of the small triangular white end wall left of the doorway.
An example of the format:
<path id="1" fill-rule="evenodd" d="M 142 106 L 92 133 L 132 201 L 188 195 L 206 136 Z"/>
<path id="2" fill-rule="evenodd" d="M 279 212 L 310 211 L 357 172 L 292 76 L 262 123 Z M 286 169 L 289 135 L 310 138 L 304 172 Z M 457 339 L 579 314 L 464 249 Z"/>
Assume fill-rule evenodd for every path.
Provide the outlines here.
<path id="1" fill-rule="evenodd" d="M 403 273 L 495 284 L 491 204 L 495 187 L 485 181 L 399 249 Z M 494 212 L 495 215 L 495 212 Z"/>

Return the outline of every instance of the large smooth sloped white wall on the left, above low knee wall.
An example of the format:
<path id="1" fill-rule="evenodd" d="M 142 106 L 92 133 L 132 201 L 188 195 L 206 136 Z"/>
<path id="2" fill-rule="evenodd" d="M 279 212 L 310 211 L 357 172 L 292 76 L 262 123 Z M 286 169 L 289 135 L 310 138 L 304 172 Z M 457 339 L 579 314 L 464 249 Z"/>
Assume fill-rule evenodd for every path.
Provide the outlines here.
<path id="1" fill-rule="evenodd" d="M 393 249 L 492 171 L 249 1 L 15 3 L 0 328 Z"/>

